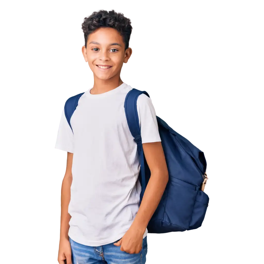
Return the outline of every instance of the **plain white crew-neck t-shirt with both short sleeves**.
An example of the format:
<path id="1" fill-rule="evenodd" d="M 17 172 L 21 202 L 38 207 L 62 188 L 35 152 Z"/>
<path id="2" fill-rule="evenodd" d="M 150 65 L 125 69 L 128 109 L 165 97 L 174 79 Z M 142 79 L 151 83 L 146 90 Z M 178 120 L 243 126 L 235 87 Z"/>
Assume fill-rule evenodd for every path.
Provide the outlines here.
<path id="1" fill-rule="evenodd" d="M 132 88 L 123 83 L 99 95 L 88 88 L 70 120 L 73 131 L 60 112 L 54 148 L 73 153 L 68 234 L 77 243 L 96 247 L 117 241 L 138 211 L 140 163 L 124 109 Z M 142 143 L 160 142 L 152 99 L 140 95 L 137 109 Z"/>

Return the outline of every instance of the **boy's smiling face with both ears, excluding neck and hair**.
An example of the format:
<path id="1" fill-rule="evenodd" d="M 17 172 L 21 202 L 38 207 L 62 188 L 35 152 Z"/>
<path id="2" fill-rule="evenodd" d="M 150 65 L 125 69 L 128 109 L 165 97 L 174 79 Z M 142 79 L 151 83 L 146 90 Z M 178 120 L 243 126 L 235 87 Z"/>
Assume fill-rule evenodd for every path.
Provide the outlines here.
<path id="1" fill-rule="evenodd" d="M 93 76 L 101 80 L 119 75 L 123 63 L 128 61 L 130 53 L 130 48 L 125 50 L 125 43 L 119 32 L 109 27 L 101 27 L 91 33 L 87 40 L 87 48 L 82 46 L 85 64 Z"/>

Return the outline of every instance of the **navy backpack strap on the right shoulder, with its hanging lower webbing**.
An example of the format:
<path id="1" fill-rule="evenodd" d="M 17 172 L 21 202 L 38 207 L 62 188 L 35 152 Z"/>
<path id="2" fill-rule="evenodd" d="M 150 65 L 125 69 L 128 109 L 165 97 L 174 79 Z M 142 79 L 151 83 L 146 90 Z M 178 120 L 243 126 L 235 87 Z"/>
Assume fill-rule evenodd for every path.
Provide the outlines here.
<path id="1" fill-rule="evenodd" d="M 134 140 L 138 147 L 138 155 L 141 165 L 141 181 L 142 181 L 142 196 L 146 189 L 146 179 L 145 179 L 145 166 L 144 166 L 144 153 L 142 147 L 142 139 L 141 139 L 141 132 L 139 126 L 139 119 L 138 119 L 138 110 L 137 110 L 137 99 L 139 95 L 144 93 L 148 97 L 150 97 L 150 93 L 147 91 L 143 91 L 141 89 L 133 88 L 128 92 L 125 99 L 125 114 L 126 120 L 128 122 L 129 130 L 134 137 Z"/>

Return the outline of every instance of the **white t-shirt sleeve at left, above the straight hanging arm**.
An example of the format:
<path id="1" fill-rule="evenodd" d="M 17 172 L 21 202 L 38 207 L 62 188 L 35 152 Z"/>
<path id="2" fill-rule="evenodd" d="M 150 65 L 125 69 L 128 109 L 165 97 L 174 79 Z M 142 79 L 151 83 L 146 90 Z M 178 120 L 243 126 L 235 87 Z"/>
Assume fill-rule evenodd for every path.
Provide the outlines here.
<path id="1" fill-rule="evenodd" d="M 65 117 L 64 109 L 60 111 L 60 119 L 55 135 L 53 147 L 55 150 L 73 153 L 74 149 L 73 132 Z"/>

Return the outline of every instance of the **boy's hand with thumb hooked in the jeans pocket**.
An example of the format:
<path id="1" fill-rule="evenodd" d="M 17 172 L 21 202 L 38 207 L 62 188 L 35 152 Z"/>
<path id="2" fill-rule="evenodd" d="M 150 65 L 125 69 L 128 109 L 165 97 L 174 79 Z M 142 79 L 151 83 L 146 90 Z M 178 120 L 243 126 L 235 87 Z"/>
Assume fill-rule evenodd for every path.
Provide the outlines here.
<path id="1" fill-rule="evenodd" d="M 124 236 L 116 243 L 115 246 L 120 247 L 121 251 L 129 254 L 138 254 L 142 250 L 143 234 L 141 230 L 131 226 Z"/>

